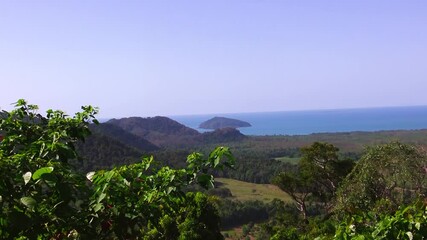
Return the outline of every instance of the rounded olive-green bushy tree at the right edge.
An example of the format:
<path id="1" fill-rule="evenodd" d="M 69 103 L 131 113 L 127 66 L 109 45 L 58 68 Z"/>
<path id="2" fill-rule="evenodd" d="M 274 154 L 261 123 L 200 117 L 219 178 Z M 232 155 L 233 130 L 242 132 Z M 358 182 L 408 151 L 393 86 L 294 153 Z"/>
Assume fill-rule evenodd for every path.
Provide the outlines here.
<path id="1" fill-rule="evenodd" d="M 395 211 L 423 196 L 427 189 L 427 155 L 413 146 L 392 142 L 367 148 L 337 191 L 337 212 L 365 212 L 382 207 Z"/>

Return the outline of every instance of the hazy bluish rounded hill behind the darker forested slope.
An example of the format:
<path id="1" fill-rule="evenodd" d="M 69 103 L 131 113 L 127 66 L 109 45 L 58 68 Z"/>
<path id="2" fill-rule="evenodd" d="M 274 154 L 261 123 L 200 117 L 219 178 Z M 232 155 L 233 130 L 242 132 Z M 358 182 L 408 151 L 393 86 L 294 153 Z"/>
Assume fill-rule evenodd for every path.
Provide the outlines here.
<path id="1" fill-rule="evenodd" d="M 167 117 L 130 117 L 111 119 L 107 123 L 160 147 L 188 146 L 197 143 L 197 138 L 201 135 L 198 131 Z"/>

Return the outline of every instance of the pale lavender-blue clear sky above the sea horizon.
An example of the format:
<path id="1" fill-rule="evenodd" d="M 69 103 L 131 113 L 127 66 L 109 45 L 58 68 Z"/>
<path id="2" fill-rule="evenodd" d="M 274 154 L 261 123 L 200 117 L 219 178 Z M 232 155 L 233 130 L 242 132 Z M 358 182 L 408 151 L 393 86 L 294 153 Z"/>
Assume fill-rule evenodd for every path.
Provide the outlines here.
<path id="1" fill-rule="evenodd" d="M 0 0 L 0 108 L 427 105 L 425 0 Z"/>

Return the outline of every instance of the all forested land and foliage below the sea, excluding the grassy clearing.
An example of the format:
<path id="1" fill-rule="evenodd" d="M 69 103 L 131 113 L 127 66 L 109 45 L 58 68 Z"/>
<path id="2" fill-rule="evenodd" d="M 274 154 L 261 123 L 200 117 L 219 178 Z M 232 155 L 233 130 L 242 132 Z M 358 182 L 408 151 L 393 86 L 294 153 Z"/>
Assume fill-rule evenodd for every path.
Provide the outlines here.
<path id="1" fill-rule="evenodd" d="M 427 237 L 426 130 L 254 137 L 96 113 L 2 112 L 1 238 Z M 289 198 L 238 201 L 215 177 Z"/>

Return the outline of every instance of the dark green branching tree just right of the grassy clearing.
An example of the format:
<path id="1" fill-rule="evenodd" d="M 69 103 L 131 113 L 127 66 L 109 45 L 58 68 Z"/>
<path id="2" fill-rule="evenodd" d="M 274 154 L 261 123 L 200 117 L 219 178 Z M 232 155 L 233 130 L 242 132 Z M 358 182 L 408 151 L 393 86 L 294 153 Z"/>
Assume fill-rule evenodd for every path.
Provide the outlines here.
<path id="1" fill-rule="evenodd" d="M 296 172 L 281 173 L 273 179 L 273 184 L 292 197 L 304 220 L 308 200 L 322 202 L 326 211 L 330 210 L 339 183 L 353 167 L 353 161 L 339 159 L 338 151 L 330 143 L 315 142 L 301 149 Z"/>

